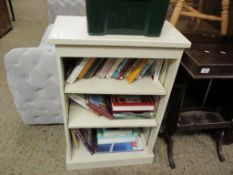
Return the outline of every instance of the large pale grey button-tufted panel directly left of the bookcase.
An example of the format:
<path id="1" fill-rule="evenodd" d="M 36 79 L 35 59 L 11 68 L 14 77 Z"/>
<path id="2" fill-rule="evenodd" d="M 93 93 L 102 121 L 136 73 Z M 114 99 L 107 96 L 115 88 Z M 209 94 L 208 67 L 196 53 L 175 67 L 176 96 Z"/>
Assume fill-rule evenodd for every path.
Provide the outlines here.
<path id="1" fill-rule="evenodd" d="M 63 123 L 54 46 L 12 49 L 5 55 L 7 81 L 27 124 Z"/>

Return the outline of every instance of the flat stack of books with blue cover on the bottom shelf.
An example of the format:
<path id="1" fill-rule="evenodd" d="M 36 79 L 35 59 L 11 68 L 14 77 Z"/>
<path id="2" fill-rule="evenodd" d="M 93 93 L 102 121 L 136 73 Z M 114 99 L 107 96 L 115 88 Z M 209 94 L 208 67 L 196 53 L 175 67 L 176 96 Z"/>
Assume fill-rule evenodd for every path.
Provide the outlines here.
<path id="1" fill-rule="evenodd" d="M 134 129 L 98 129 L 96 153 L 142 151 L 139 132 Z"/>

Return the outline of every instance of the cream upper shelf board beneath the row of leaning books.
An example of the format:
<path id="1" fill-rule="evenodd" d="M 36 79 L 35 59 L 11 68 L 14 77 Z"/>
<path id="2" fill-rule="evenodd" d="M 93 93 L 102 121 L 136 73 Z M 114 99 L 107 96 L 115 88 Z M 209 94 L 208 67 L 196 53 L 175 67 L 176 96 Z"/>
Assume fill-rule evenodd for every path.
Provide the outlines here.
<path id="1" fill-rule="evenodd" d="M 144 77 L 129 84 L 126 80 L 81 79 L 74 84 L 65 85 L 65 93 L 80 94 L 128 94 L 128 95 L 166 95 L 166 90 L 158 80 Z"/>

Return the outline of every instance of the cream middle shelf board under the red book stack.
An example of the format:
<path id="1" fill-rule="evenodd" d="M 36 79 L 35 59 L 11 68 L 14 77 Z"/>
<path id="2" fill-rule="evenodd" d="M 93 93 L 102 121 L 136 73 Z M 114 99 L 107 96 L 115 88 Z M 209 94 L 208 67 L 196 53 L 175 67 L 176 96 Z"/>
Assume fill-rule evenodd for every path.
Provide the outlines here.
<path id="1" fill-rule="evenodd" d="M 156 119 L 116 119 L 109 120 L 75 103 L 69 106 L 68 128 L 114 128 L 114 127 L 156 127 Z"/>

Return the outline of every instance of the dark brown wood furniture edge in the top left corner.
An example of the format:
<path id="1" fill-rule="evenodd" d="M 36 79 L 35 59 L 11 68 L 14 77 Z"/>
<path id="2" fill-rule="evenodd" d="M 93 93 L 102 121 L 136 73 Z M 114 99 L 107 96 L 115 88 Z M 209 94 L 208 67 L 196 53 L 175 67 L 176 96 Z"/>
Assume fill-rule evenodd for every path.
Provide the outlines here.
<path id="1" fill-rule="evenodd" d="M 10 15 L 8 12 L 6 0 L 0 1 L 0 38 L 12 30 Z"/>

